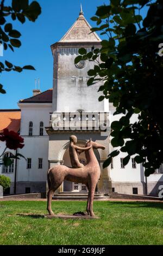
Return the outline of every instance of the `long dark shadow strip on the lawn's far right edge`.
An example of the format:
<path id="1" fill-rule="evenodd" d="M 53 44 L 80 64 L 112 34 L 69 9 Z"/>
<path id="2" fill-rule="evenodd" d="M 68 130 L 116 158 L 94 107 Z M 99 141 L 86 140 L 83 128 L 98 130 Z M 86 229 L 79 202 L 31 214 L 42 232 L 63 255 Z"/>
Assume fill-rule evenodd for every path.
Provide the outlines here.
<path id="1" fill-rule="evenodd" d="M 122 205 L 124 207 L 131 207 L 131 208 L 160 208 L 163 210 L 163 203 L 160 202 L 127 202 L 127 201 L 114 201 L 109 202 L 109 205 Z"/>

